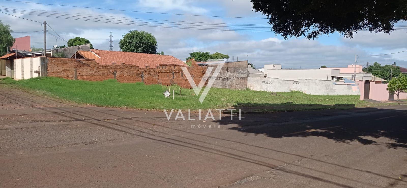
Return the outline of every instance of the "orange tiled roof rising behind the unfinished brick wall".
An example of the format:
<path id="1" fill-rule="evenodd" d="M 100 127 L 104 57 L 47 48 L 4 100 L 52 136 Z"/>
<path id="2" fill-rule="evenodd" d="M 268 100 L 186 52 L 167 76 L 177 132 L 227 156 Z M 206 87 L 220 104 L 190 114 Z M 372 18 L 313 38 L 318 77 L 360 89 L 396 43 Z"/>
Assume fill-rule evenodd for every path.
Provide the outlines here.
<path id="1" fill-rule="evenodd" d="M 185 63 L 171 55 L 156 55 L 148 53 L 132 53 L 123 51 L 105 51 L 92 49 L 90 52 L 79 51 L 85 58 L 95 59 L 101 65 L 111 65 L 112 62 L 116 64 L 133 64 L 138 65 L 140 68 L 147 66 L 154 67 L 157 65 L 185 65 Z M 85 52 L 85 53 L 84 53 Z M 97 58 L 93 53 L 98 55 Z M 95 58 L 96 57 L 96 58 Z"/>

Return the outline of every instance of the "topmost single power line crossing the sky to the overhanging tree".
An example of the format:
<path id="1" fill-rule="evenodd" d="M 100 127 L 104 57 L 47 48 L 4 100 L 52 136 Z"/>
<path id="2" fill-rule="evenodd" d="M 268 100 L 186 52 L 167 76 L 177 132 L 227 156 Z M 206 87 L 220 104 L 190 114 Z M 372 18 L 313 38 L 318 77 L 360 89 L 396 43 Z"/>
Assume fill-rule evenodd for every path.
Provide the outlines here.
<path id="1" fill-rule="evenodd" d="M 147 12 L 147 11 L 130 11 L 130 10 L 120 10 L 120 9 L 106 9 L 106 8 L 96 8 L 96 7 L 81 7 L 81 6 L 64 5 L 64 4 L 49 4 L 49 3 L 25 2 L 25 1 L 15 1 L 15 0 L 5 0 L 5 1 L 23 2 L 23 3 L 32 3 L 32 4 L 55 5 L 55 6 L 64 6 L 64 7 L 79 7 L 79 8 L 87 8 L 87 9 L 101 9 L 101 10 L 111 10 L 111 11 L 127 11 L 127 12 L 139 12 L 139 13 L 168 14 L 168 15 L 189 15 L 189 16 L 203 16 L 203 17 L 217 17 L 217 18 L 267 19 L 267 18 L 237 17 L 237 16 L 197 15 L 197 14 L 178 14 L 178 13 L 162 13 L 162 12 Z"/>

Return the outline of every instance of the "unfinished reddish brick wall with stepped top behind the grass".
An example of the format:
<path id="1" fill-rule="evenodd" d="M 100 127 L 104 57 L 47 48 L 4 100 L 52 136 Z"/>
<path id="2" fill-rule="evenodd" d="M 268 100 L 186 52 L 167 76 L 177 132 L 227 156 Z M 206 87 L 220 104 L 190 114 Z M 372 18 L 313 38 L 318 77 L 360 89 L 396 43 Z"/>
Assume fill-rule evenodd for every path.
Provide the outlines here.
<path id="1" fill-rule="evenodd" d="M 192 66 L 187 67 L 195 83 L 199 84 L 206 72 L 206 66 L 198 66 L 195 60 L 190 60 Z M 161 65 L 157 67 L 140 68 L 136 65 L 112 64 L 99 65 L 95 60 L 70 58 L 48 58 L 48 76 L 62 77 L 70 80 L 102 81 L 116 79 L 119 82 L 144 82 L 145 84 L 177 84 L 191 88 L 182 66 Z"/>

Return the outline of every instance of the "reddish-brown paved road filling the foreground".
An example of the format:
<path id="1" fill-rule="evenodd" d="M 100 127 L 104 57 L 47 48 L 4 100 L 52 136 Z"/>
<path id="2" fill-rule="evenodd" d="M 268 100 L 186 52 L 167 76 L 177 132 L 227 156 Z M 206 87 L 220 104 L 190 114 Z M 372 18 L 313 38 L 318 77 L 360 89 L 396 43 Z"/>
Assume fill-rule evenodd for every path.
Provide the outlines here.
<path id="1" fill-rule="evenodd" d="M 407 186 L 407 105 L 168 121 L 34 94 L 0 85 L 1 187 Z"/>

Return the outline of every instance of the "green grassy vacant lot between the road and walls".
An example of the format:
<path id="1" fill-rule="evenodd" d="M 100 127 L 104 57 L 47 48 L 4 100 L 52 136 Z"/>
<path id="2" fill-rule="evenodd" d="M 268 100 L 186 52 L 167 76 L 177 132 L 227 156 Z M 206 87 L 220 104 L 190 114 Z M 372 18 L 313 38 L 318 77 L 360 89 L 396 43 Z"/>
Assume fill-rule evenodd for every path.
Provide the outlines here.
<path id="1" fill-rule="evenodd" d="M 308 95 L 298 91 L 271 95 L 270 92 L 265 91 L 224 88 L 211 88 L 201 104 L 192 89 L 181 88 L 182 96 L 180 97 L 180 87 L 176 85 L 144 85 L 143 83 L 120 83 L 116 80 L 90 82 L 57 77 L 38 77 L 19 81 L 4 78 L 0 83 L 29 88 L 40 94 L 81 104 L 148 110 L 248 107 L 269 112 L 388 105 L 361 101 L 356 95 Z M 168 88 L 175 89 L 175 100 L 172 100 L 172 91 L 171 98 L 165 98 L 162 94 Z M 271 106 L 272 108 L 270 108 Z"/>

